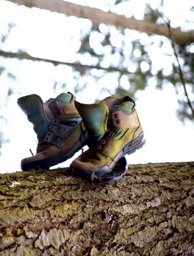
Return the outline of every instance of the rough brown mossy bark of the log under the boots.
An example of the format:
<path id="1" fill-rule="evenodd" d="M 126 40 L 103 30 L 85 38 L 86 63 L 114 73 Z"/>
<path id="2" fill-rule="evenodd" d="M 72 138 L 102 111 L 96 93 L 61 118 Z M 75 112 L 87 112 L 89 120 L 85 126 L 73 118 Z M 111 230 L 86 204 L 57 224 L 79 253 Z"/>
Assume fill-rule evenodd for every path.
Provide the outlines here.
<path id="1" fill-rule="evenodd" d="M 194 162 L 130 165 L 108 184 L 1 174 L 0 255 L 194 255 L 193 176 Z"/>

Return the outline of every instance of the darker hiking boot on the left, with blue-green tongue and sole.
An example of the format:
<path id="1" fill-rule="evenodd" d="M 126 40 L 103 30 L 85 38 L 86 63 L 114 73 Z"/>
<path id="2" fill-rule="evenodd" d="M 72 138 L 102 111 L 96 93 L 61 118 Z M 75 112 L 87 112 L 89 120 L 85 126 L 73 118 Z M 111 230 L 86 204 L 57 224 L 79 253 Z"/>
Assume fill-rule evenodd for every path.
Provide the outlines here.
<path id="1" fill-rule="evenodd" d="M 36 94 L 18 99 L 18 105 L 33 124 L 38 138 L 36 155 L 22 159 L 22 170 L 48 169 L 66 161 L 85 145 L 87 132 L 74 99 L 69 92 L 45 103 Z"/>

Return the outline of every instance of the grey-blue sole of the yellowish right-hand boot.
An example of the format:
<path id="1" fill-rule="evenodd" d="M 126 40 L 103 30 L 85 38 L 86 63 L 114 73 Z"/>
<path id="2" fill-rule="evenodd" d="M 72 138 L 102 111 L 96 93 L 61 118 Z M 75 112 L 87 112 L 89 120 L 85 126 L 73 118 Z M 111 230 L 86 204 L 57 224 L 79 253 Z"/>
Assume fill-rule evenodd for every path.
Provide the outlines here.
<path id="1" fill-rule="evenodd" d="M 112 173 L 115 165 L 117 165 L 117 162 L 119 162 L 120 159 L 125 156 L 125 154 L 133 154 L 136 150 L 144 146 L 145 142 L 146 140 L 144 139 L 144 133 L 141 132 L 141 134 L 135 140 L 132 140 L 130 143 L 127 143 L 125 145 L 123 150 L 120 151 L 119 154 L 117 154 L 114 162 L 112 162 L 110 166 L 103 166 L 93 170 L 79 170 L 71 167 L 71 171 L 72 173 L 74 173 L 74 175 L 82 178 L 91 178 L 92 180 L 93 178 L 96 178 L 98 180 L 101 180 L 104 176 L 110 175 L 110 173 Z"/>

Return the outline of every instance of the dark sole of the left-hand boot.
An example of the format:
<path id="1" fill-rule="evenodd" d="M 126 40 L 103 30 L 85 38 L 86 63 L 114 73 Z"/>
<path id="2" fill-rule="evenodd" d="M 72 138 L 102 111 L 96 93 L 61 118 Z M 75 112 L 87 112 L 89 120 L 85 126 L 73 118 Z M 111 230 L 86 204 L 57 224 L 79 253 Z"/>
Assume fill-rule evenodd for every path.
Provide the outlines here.
<path id="1" fill-rule="evenodd" d="M 34 162 L 28 162 L 26 164 L 21 165 L 22 170 L 37 170 L 37 169 L 43 169 L 43 170 L 49 170 L 51 166 L 58 165 L 61 162 L 65 162 L 67 159 L 74 156 L 74 154 L 79 151 L 83 146 L 86 145 L 85 141 L 85 134 L 82 134 L 79 139 L 79 145 L 75 145 L 73 148 L 71 148 L 71 151 L 69 151 L 68 154 L 59 154 L 55 157 L 50 157 Z"/>

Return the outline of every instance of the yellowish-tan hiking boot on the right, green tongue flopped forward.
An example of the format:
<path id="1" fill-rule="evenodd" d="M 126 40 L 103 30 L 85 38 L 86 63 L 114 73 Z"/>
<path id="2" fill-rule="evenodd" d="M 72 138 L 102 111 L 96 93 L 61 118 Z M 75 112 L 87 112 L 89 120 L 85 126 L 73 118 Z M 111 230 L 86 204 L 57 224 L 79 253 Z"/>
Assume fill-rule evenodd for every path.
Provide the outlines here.
<path id="1" fill-rule="evenodd" d="M 144 145 L 144 132 L 130 97 L 107 97 L 91 105 L 75 101 L 75 106 L 88 130 L 89 149 L 71 162 L 73 173 L 101 178 L 125 154 Z"/>

